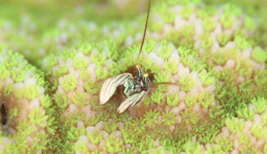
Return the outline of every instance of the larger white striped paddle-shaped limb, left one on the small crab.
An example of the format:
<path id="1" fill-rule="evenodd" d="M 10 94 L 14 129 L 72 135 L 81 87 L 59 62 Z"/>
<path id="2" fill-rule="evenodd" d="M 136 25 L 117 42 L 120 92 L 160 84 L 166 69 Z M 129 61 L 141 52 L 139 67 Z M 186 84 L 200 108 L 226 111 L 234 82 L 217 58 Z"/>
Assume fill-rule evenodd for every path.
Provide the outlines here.
<path id="1" fill-rule="evenodd" d="M 123 73 L 120 75 L 115 76 L 115 78 L 107 79 L 100 91 L 100 104 L 105 104 L 113 95 L 116 88 L 119 85 L 122 85 L 127 81 L 129 78 L 133 78 L 130 73 Z"/>

